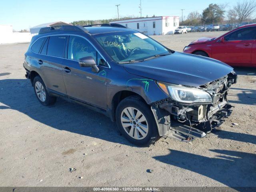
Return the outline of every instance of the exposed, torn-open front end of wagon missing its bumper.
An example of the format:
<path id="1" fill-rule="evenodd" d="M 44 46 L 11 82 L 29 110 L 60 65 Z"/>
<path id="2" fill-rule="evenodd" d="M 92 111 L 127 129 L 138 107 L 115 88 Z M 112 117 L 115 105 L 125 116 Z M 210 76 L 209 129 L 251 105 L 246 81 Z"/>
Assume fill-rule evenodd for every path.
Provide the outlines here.
<path id="1" fill-rule="evenodd" d="M 202 104 L 182 104 L 171 98 L 154 102 L 151 106 L 160 136 L 179 141 L 202 138 L 220 126 L 232 113 L 228 103 L 228 90 L 237 82 L 234 72 L 208 84 L 200 86 L 211 94 L 213 101 Z"/>

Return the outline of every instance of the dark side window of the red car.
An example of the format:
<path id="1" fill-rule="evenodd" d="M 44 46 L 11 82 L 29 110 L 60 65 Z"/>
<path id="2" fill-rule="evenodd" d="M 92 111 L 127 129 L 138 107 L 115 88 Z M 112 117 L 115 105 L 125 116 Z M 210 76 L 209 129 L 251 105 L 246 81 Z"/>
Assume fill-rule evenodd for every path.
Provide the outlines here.
<path id="1" fill-rule="evenodd" d="M 235 40 L 254 40 L 256 37 L 256 27 L 242 28 L 236 30 L 231 34 L 224 37 L 225 41 L 235 41 Z"/>

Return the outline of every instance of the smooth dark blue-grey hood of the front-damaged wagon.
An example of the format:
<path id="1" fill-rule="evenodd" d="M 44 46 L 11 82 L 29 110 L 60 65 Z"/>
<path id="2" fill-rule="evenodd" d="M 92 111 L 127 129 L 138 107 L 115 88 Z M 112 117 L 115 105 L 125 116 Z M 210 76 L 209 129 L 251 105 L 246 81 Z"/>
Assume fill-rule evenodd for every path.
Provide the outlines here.
<path id="1" fill-rule="evenodd" d="M 144 78 L 195 87 L 217 80 L 233 70 L 218 60 L 180 52 L 123 66 L 127 72 Z"/>

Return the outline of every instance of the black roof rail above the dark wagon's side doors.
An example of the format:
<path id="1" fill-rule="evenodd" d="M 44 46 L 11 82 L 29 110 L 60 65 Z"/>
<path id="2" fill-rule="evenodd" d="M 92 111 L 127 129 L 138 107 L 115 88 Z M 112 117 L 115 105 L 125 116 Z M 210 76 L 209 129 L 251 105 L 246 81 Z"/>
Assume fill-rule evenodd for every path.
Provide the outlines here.
<path id="1" fill-rule="evenodd" d="M 54 27 L 44 27 L 41 28 L 38 34 L 44 34 L 49 32 L 56 31 L 80 31 L 80 32 L 88 32 L 82 26 L 74 26 L 74 25 L 62 25 L 62 26 L 54 26 Z"/>

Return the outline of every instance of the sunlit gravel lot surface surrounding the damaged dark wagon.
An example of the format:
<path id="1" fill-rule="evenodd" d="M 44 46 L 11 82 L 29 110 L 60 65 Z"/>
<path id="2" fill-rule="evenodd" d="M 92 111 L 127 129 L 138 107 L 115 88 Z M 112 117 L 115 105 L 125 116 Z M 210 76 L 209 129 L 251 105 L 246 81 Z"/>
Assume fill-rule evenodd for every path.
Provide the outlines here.
<path id="1" fill-rule="evenodd" d="M 182 51 L 222 33 L 153 38 Z M 24 76 L 28 45 L 0 46 L 0 186 L 256 186 L 255 68 L 235 68 L 235 108 L 220 130 L 190 143 L 161 138 L 138 148 L 102 114 L 60 99 L 42 106 Z"/>

